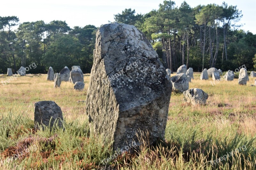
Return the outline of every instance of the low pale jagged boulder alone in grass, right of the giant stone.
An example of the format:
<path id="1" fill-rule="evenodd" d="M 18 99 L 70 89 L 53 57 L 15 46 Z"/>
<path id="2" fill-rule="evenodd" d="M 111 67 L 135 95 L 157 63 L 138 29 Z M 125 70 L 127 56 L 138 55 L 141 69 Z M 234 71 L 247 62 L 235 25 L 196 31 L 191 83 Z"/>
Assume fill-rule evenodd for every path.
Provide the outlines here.
<path id="1" fill-rule="evenodd" d="M 202 89 L 189 89 L 183 92 L 184 101 L 196 104 L 205 104 L 208 99 L 208 94 L 205 93 Z"/>

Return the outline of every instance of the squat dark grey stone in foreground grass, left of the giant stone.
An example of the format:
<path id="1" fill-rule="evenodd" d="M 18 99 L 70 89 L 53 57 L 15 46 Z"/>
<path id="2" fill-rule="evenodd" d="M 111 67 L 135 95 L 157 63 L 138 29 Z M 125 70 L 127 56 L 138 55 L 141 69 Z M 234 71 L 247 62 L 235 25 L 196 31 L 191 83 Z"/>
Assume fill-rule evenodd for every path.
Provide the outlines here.
<path id="1" fill-rule="evenodd" d="M 56 123 L 58 122 L 57 125 L 59 127 L 62 127 L 62 111 L 60 107 L 53 101 L 36 102 L 34 116 L 36 128 L 38 128 L 38 125 L 50 126 L 52 128 L 55 121 Z"/>

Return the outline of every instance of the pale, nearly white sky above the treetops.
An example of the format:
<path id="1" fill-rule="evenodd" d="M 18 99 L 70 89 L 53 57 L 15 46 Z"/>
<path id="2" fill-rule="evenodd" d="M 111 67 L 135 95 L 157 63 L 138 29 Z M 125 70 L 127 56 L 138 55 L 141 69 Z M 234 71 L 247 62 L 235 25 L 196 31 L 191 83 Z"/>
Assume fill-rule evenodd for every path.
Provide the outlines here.
<path id="1" fill-rule="evenodd" d="M 114 14 L 121 13 L 125 8 L 135 9 L 136 13 L 145 14 L 164 0 L 4 0 L 1 2 L 0 16 L 17 16 L 20 23 L 44 20 L 62 20 L 73 28 L 74 26 L 95 25 L 96 27 L 107 24 L 108 20 L 114 21 Z M 184 0 L 175 0 L 176 6 Z M 187 0 L 191 7 L 198 4 L 219 4 L 223 0 Z M 256 0 L 226 0 L 228 5 L 237 5 L 242 10 L 243 18 L 238 24 L 244 24 L 241 29 L 256 34 Z"/>

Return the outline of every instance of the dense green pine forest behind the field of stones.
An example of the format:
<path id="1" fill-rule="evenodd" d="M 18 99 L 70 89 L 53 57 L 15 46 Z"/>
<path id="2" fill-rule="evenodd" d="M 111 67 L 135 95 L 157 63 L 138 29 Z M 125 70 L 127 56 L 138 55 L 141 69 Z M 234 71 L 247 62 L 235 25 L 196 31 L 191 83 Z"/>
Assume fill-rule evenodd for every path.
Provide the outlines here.
<path id="1" fill-rule="evenodd" d="M 194 71 L 216 67 L 223 71 L 245 65 L 256 69 L 256 35 L 240 30 L 242 17 L 237 6 L 208 4 L 191 8 L 164 1 L 157 10 L 136 14 L 125 9 L 114 15 L 118 23 L 135 25 L 152 43 L 166 68 L 176 71 L 186 64 Z M 14 30 L 14 28 L 18 28 Z M 29 73 L 55 72 L 79 65 L 90 73 L 95 44 L 94 25 L 70 28 L 65 21 L 24 22 L 17 16 L 0 16 L 0 73 L 16 72 L 36 64 Z"/>

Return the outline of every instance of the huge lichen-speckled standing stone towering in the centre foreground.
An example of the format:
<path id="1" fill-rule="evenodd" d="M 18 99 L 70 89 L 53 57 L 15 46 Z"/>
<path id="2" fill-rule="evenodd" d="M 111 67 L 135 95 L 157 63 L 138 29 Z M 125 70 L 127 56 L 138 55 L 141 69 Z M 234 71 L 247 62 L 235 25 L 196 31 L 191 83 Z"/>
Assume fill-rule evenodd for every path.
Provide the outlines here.
<path id="1" fill-rule="evenodd" d="M 156 51 L 136 27 L 106 24 L 96 33 L 86 113 L 90 130 L 113 149 L 148 131 L 164 138 L 172 84 Z"/>

